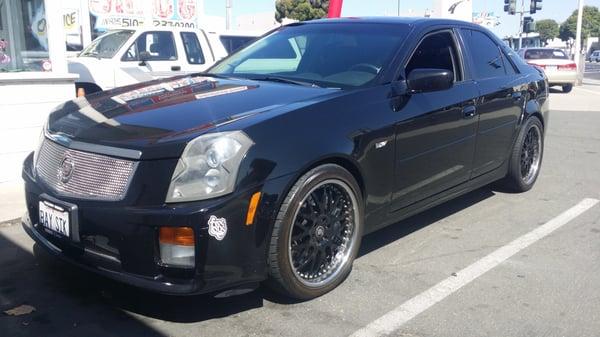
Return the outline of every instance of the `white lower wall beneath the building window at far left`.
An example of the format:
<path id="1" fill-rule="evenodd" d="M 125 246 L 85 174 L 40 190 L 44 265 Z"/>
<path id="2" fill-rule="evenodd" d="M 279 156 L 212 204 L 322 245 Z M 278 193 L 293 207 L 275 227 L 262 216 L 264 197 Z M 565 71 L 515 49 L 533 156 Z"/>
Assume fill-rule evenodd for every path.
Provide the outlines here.
<path id="1" fill-rule="evenodd" d="M 76 75 L 5 73 L 0 76 L 0 183 L 18 181 L 48 114 L 75 97 Z"/>

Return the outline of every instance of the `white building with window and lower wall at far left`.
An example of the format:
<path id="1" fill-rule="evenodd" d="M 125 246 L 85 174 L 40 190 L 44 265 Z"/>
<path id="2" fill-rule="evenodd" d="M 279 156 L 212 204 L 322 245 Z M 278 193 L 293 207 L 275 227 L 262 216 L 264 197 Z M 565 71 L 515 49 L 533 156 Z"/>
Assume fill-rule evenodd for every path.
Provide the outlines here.
<path id="1" fill-rule="evenodd" d="M 75 96 L 56 0 L 0 0 L 0 183 L 18 181 L 48 113 Z"/>

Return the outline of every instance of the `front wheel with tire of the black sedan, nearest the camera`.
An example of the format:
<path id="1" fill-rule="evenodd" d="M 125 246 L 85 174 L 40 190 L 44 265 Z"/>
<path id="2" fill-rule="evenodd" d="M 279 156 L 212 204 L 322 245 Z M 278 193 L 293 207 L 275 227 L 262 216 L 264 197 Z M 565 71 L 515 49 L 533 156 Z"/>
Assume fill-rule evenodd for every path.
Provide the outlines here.
<path id="1" fill-rule="evenodd" d="M 360 191 L 354 176 L 334 164 L 318 166 L 298 179 L 271 235 L 271 289 L 308 300 L 331 291 L 348 276 L 363 233 Z"/>

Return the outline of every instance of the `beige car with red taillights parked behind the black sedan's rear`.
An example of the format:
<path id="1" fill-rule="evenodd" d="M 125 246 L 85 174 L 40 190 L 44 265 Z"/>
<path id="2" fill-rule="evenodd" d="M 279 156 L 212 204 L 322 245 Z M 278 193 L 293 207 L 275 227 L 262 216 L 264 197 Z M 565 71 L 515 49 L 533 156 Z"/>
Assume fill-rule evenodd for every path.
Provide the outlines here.
<path id="1" fill-rule="evenodd" d="M 563 92 L 571 92 L 577 80 L 577 65 L 561 49 L 526 48 L 519 55 L 531 65 L 544 69 L 550 86 L 561 86 Z"/>

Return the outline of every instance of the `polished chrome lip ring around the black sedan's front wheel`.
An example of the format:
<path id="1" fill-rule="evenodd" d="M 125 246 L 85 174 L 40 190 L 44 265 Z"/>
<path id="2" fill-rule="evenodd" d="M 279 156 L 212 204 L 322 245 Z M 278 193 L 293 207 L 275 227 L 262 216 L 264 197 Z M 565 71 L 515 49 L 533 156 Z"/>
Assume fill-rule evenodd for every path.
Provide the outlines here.
<path id="1" fill-rule="evenodd" d="M 333 268 L 328 269 L 324 274 L 319 275 L 319 277 L 317 277 L 317 278 L 306 279 L 299 274 L 299 271 L 294 266 L 294 261 L 292 258 L 292 234 L 294 231 L 294 226 L 296 223 L 296 219 L 298 217 L 298 213 L 299 213 L 302 205 L 304 204 L 304 202 L 306 202 L 308 197 L 314 191 L 316 191 L 319 188 L 321 188 L 322 186 L 328 185 L 328 184 L 334 184 L 334 185 L 337 185 L 338 187 L 341 187 L 344 190 L 344 192 L 346 193 L 346 195 L 350 198 L 350 202 L 352 205 L 352 210 L 351 210 L 352 211 L 352 219 L 350 222 L 351 233 L 350 233 L 350 235 L 347 236 L 347 241 L 344 244 L 343 252 L 341 254 L 340 253 L 336 254 L 336 257 L 335 257 L 336 262 L 335 262 L 335 265 L 333 266 Z M 327 286 L 328 284 L 330 284 L 331 282 L 333 282 L 334 280 L 337 279 L 338 275 L 342 272 L 344 267 L 349 263 L 350 255 L 354 251 L 357 237 L 358 237 L 357 222 L 360 221 L 359 216 L 360 216 L 360 214 L 358 211 L 358 203 L 357 203 L 357 198 L 354 195 L 354 191 L 347 183 L 345 183 L 342 180 L 339 180 L 339 179 L 324 180 L 324 181 L 320 182 L 319 184 L 317 184 L 316 186 L 314 186 L 313 188 L 311 188 L 310 191 L 308 191 L 308 193 L 305 194 L 305 196 L 302 198 L 302 200 L 298 203 L 298 207 L 294 211 L 294 217 L 292 218 L 293 223 L 292 223 L 292 227 L 290 228 L 290 233 L 289 233 L 289 237 L 288 237 L 288 241 L 287 241 L 288 242 L 288 260 L 290 263 L 290 267 L 292 269 L 292 274 L 294 274 L 294 277 L 296 278 L 296 280 L 298 280 L 302 285 L 304 285 L 308 288 L 321 288 L 321 287 Z"/>

